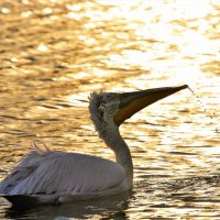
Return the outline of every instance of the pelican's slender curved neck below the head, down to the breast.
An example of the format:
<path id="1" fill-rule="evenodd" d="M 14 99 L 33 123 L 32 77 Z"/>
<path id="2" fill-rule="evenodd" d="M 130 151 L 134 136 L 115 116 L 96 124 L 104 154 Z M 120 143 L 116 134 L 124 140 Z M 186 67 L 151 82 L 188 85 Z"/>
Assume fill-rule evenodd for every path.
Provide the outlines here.
<path id="1" fill-rule="evenodd" d="M 114 152 L 116 161 L 124 167 L 129 183 L 133 182 L 133 163 L 129 146 L 122 139 L 119 129 L 111 131 L 108 138 L 103 139 L 106 144 Z"/>

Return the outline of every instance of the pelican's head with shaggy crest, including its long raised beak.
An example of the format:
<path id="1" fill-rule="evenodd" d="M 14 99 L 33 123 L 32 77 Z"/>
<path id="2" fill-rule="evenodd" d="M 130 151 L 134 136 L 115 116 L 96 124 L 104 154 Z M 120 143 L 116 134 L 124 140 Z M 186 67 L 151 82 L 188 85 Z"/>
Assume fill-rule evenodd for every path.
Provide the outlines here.
<path id="1" fill-rule="evenodd" d="M 105 140 L 110 131 L 118 131 L 119 127 L 134 113 L 185 88 L 188 86 L 162 87 L 124 94 L 95 91 L 89 98 L 90 118 L 99 136 Z"/>

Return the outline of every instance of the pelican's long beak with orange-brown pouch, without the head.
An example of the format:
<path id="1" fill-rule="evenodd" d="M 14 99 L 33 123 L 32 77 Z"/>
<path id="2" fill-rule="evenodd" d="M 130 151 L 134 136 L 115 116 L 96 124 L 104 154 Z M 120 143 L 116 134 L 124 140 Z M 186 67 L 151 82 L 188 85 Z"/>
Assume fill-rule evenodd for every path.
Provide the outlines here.
<path id="1" fill-rule="evenodd" d="M 188 88 L 188 86 L 183 85 L 178 87 L 162 87 L 120 94 L 119 111 L 113 118 L 114 123 L 120 127 L 127 119 L 131 118 L 134 113 L 143 108 L 186 88 Z"/>

